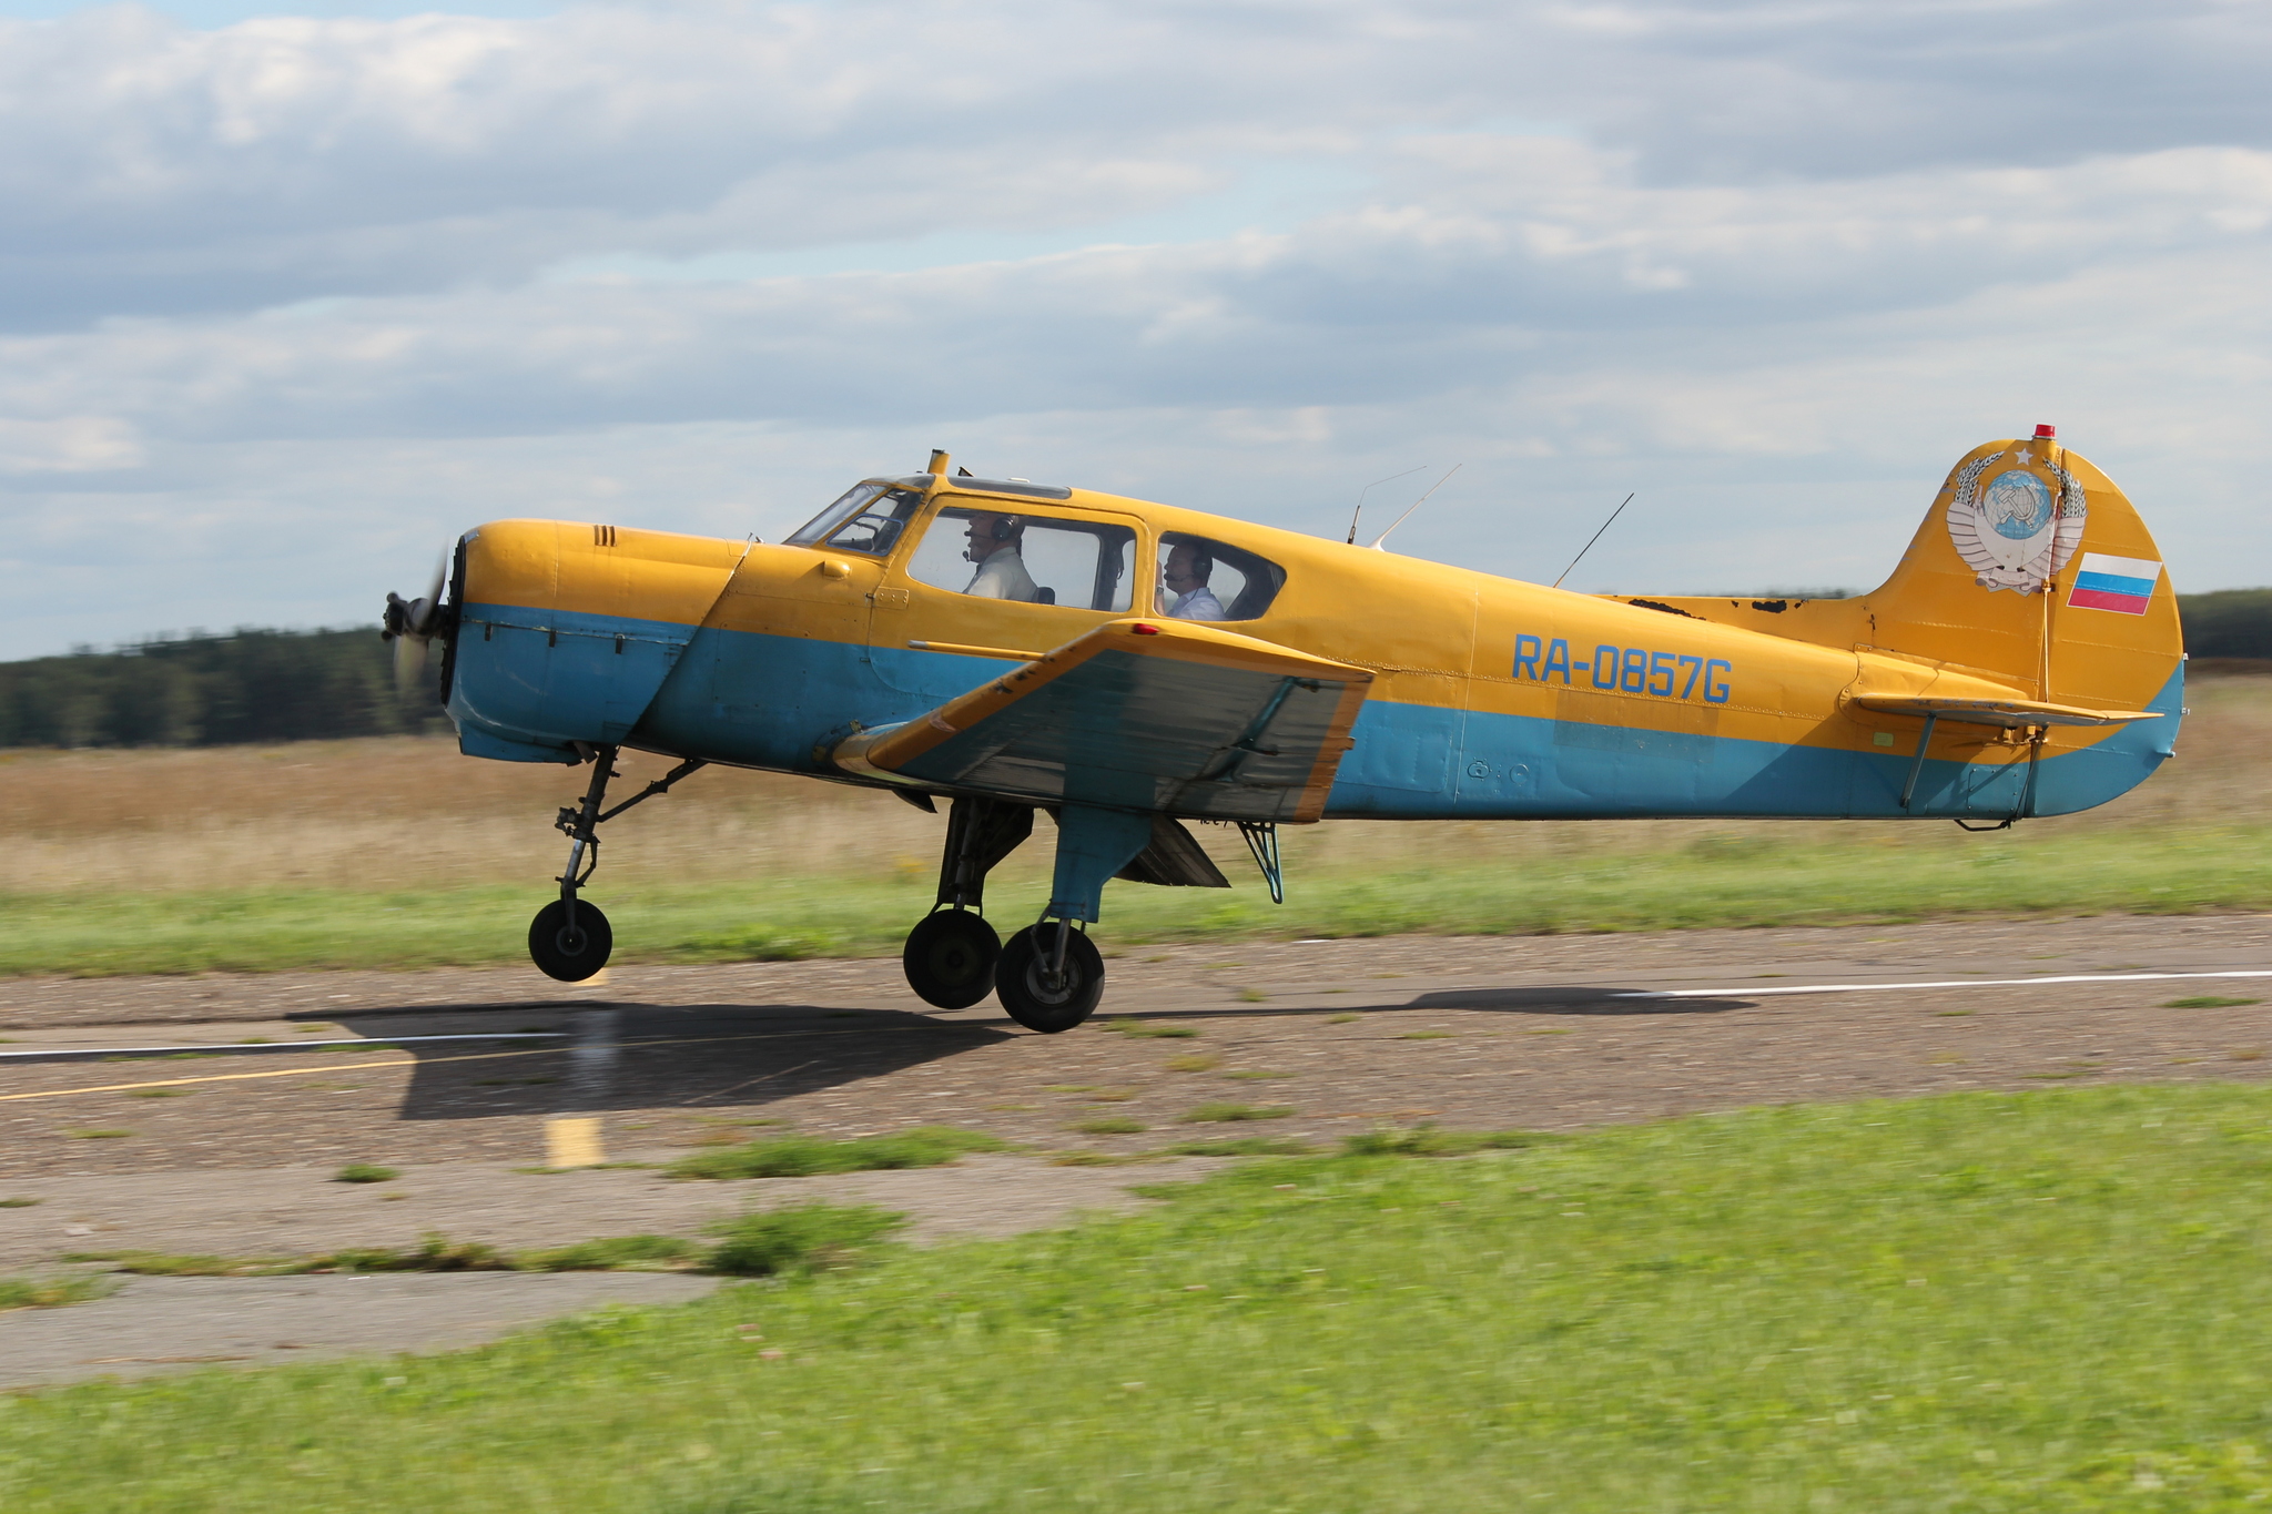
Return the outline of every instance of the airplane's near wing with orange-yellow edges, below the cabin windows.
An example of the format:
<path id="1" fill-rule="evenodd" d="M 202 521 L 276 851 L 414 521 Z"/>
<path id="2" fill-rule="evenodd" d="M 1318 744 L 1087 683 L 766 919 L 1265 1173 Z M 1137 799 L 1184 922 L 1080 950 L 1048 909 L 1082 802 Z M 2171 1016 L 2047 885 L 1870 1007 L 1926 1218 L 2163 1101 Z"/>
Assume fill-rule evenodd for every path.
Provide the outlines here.
<path id="1" fill-rule="evenodd" d="M 832 758 L 888 783 L 1300 824 L 1325 810 L 1370 683 L 1188 620 L 1111 620 Z"/>

